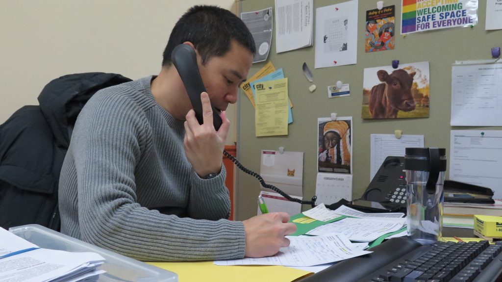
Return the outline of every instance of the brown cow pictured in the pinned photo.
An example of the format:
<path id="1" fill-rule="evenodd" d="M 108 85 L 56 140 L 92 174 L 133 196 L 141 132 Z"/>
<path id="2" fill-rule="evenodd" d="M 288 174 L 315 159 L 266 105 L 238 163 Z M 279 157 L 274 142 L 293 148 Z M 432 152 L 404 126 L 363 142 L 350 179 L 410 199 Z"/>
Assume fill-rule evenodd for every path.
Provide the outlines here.
<path id="1" fill-rule="evenodd" d="M 376 72 L 379 85 L 371 88 L 369 96 L 369 113 L 372 118 L 396 118 L 398 111 L 412 111 L 415 101 L 411 94 L 413 76 L 403 69 L 395 70 L 390 75 L 385 70 Z"/>

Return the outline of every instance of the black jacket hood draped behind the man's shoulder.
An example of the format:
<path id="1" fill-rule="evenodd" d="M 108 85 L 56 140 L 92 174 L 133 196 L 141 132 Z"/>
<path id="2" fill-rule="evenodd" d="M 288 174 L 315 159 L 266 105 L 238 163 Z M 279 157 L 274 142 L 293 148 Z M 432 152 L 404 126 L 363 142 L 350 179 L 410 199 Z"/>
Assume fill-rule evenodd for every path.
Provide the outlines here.
<path id="1" fill-rule="evenodd" d="M 40 110 L 51 128 L 56 144 L 68 148 L 69 129 L 73 127 L 80 110 L 98 90 L 131 81 L 115 73 L 68 74 L 49 82 L 38 96 Z"/>

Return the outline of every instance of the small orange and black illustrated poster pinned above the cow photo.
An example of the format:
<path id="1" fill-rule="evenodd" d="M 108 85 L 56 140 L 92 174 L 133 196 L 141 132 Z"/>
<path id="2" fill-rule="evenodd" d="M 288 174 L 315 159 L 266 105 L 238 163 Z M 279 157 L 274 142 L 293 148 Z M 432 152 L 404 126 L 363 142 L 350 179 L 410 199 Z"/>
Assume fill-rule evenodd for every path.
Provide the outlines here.
<path id="1" fill-rule="evenodd" d="M 394 5 L 366 11 L 364 32 L 366 53 L 394 50 L 395 11 Z"/>

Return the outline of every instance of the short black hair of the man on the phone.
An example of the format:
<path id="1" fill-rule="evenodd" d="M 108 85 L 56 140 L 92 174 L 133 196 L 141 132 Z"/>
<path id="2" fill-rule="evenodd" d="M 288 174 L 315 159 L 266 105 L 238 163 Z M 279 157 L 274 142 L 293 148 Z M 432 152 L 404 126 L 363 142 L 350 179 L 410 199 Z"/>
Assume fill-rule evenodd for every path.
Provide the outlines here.
<path id="1" fill-rule="evenodd" d="M 185 41 L 193 43 L 202 64 L 206 64 L 211 57 L 225 55 L 232 40 L 255 54 L 253 35 L 237 16 L 216 6 L 194 6 L 174 26 L 164 50 L 162 66 L 171 65 L 174 47 Z"/>

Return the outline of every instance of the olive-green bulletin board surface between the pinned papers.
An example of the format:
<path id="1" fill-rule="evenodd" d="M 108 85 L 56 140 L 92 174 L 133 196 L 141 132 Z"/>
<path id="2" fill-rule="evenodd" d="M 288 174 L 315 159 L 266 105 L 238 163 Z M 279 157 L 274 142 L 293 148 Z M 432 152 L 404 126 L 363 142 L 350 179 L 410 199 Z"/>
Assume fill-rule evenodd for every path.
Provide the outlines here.
<path id="1" fill-rule="evenodd" d="M 345 1 L 315 0 L 314 8 L 329 6 Z M 248 169 L 260 172 L 261 150 L 279 150 L 304 152 L 303 197 L 310 200 L 315 194 L 317 165 L 317 118 L 352 116 L 352 198 L 361 197 L 370 179 L 370 134 L 394 134 L 394 130 L 403 130 L 403 134 L 423 134 L 425 147 L 446 148 L 450 150 L 450 130 L 454 129 L 502 129 L 501 127 L 450 126 L 451 112 L 451 69 L 455 61 L 491 59 L 491 48 L 502 45 L 502 30 L 485 30 L 486 2 L 479 1 L 478 23 L 474 27 L 451 28 L 403 36 L 401 30 L 401 1 L 386 0 L 385 7 L 395 5 L 396 33 L 395 49 L 366 53 L 365 13 L 376 9 L 376 1 L 359 0 L 357 64 L 314 69 L 314 46 L 277 54 L 275 34 L 272 37 L 269 58 L 265 62 L 253 64 L 249 77 L 260 70 L 268 61 L 276 69 L 283 68 L 289 79 L 289 97 L 294 104 L 294 122 L 289 125 L 285 136 L 255 136 L 255 109 L 243 92 L 237 102 L 237 159 Z M 273 0 L 243 0 L 241 12 L 251 12 L 274 7 Z M 314 9 L 315 11 L 315 9 Z M 274 11 L 275 12 L 275 11 Z M 314 13 L 315 23 L 315 13 Z M 275 23 L 274 23 L 275 28 Z M 274 30 L 275 32 L 275 30 Z M 314 34 L 315 38 L 315 24 Z M 361 104 L 363 99 L 363 70 L 379 66 L 388 66 L 392 60 L 400 63 L 429 62 L 430 66 L 430 109 L 429 117 L 399 119 L 362 119 Z M 317 89 L 309 91 L 310 83 L 302 71 L 302 64 L 310 67 Z M 337 81 L 349 83 L 350 96 L 328 98 L 327 86 Z M 236 219 L 244 220 L 256 215 L 257 197 L 260 183 L 254 177 L 236 170 Z M 446 178 L 448 179 L 447 168 Z M 326 203 L 331 204 L 331 203 Z M 303 206 L 302 210 L 308 209 Z"/>

